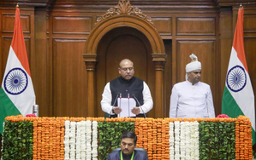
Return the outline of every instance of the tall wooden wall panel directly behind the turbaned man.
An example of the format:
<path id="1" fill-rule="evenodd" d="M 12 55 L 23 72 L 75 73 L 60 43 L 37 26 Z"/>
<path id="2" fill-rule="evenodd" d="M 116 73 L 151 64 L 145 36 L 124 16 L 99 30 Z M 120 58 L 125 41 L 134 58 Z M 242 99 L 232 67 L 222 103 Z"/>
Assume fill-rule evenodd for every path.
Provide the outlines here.
<path id="1" fill-rule="evenodd" d="M 178 40 L 176 52 L 176 83 L 185 81 L 185 68 L 191 62 L 190 54 L 195 54 L 202 65 L 200 81 L 211 86 L 211 93 L 215 111 L 219 114 L 221 97 L 219 94 L 220 85 L 216 74 L 219 74 L 218 63 L 216 61 L 216 41 L 215 39 L 205 40 Z M 219 62 L 219 61 L 218 61 Z"/>

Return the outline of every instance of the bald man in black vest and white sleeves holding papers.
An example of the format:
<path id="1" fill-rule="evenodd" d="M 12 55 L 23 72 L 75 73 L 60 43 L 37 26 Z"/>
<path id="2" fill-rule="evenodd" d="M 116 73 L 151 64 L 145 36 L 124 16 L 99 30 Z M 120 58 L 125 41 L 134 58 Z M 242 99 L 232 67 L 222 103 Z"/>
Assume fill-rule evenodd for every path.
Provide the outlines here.
<path id="1" fill-rule="evenodd" d="M 101 100 L 102 110 L 109 113 L 110 117 L 117 117 L 117 114 L 122 111 L 122 108 L 117 106 L 117 98 L 134 98 L 138 107 L 134 107 L 131 112 L 136 117 L 145 117 L 146 112 L 150 111 L 153 106 L 150 89 L 144 81 L 134 77 L 134 63 L 131 60 L 122 60 L 118 71 L 121 76 L 104 87 Z"/>

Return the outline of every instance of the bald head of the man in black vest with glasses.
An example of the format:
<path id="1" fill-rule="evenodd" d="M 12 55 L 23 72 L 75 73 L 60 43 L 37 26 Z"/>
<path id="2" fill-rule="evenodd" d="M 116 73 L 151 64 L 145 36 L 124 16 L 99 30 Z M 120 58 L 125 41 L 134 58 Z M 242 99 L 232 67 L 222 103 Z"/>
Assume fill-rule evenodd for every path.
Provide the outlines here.
<path id="1" fill-rule="evenodd" d="M 130 80 L 134 77 L 134 63 L 128 59 L 121 60 L 118 71 L 125 80 Z"/>

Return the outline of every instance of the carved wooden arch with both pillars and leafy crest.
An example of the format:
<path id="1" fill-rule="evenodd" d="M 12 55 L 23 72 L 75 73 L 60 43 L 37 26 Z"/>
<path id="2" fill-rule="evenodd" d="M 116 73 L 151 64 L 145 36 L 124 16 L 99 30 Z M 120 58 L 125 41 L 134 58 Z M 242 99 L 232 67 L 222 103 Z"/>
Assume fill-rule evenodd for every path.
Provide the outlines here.
<path id="1" fill-rule="evenodd" d="M 97 48 L 100 39 L 116 27 L 128 26 L 141 31 L 149 40 L 152 46 L 152 61 L 155 62 L 156 83 L 155 83 L 155 117 L 164 117 L 164 92 L 163 92 L 163 71 L 165 63 L 164 42 L 158 31 L 152 25 L 151 18 L 142 14 L 140 9 L 134 8 L 126 0 L 119 1 L 115 9 L 111 8 L 107 14 L 98 19 L 89 37 L 86 40 L 83 54 L 88 71 L 88 104 L 87 116 L 94 117 L 95 107 L 95 79 L 94 71 L 97 63 Z M 152 93 L 153 94 L 153 93 Z"/>

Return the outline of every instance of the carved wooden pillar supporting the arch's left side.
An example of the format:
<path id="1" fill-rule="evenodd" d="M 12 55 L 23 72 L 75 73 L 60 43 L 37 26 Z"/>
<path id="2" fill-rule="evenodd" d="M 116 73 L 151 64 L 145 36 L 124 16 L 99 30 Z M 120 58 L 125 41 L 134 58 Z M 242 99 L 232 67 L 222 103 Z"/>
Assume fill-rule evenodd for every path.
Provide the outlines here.
<path id="1" fill-rule="evenodd" d="M 83 54 L 87 71 L 87 117 L 95 117 L 95 66 L 97 54 Z"/>

